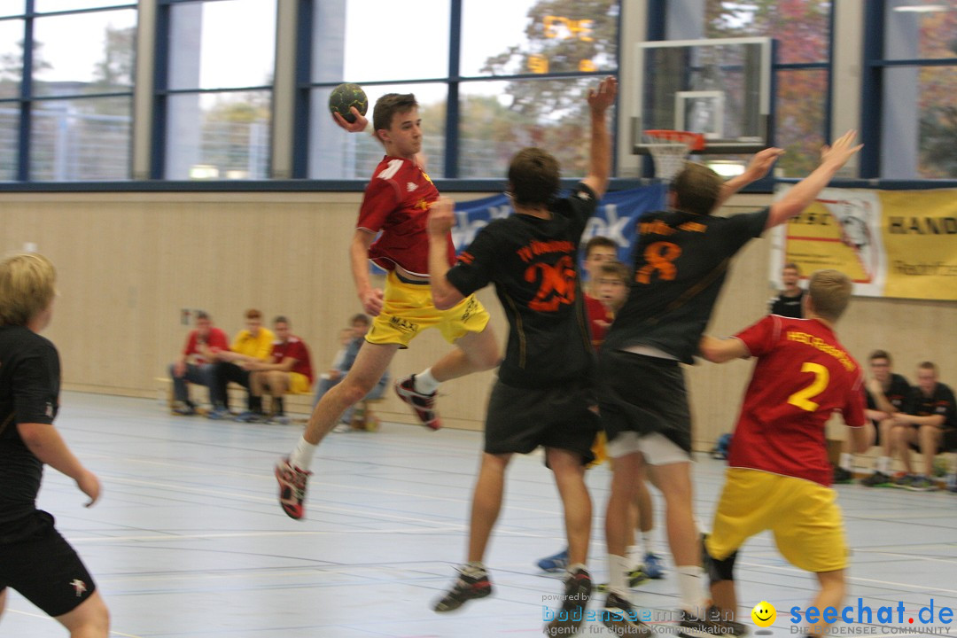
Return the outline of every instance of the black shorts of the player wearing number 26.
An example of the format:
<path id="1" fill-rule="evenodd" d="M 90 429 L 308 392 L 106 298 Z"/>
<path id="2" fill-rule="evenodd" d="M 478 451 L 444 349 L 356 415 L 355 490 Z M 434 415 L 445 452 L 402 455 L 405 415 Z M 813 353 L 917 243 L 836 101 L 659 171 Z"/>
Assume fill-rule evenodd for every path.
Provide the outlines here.
<path id="1" fill-rule="evenodd" d="M 527 454 L 539 446 L 572 451 L 582 464 L 594 459 L 591 444 L 601 428 L 590 409 L 595 399 L 590 382 L 573 381 L 545 389 L 497 382 L 485 417 L 485 451 Z"/>

